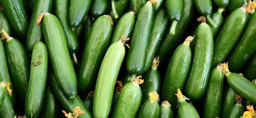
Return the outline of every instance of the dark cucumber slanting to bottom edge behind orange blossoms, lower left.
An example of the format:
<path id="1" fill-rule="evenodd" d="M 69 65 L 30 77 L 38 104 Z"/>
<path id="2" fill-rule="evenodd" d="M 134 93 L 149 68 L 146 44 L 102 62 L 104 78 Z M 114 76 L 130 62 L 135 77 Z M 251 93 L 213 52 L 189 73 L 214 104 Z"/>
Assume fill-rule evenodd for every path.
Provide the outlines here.
<path id="1" fill-rule="evenodd" d="M 51 69 L 51 67 L 48 67 L 48 73 L 47 74 L 48 74 L 47 75 L 48 83 L 50 84 L 53 93 L 57 97 L 61 106 L 65 110 L 67 110 L 67 112 L 73 113 L 73 110 L 75 109 L 75 107 L 79 106 L 80 110 L 84 111 L 84 113 L 79 114 L 77 118 L 92 118 L 92 114 L 90 114 L 88 109 L 83 104 L 83 101 L 79 97 L 76 97 L 73 100 L 70 100 L 67 97 L 65 97 L 65 95 L 61 91 L 61 88 L 60 88 L 60 86 L 57 82 L 57 77 L 53 73 L 53 70 Z"/>

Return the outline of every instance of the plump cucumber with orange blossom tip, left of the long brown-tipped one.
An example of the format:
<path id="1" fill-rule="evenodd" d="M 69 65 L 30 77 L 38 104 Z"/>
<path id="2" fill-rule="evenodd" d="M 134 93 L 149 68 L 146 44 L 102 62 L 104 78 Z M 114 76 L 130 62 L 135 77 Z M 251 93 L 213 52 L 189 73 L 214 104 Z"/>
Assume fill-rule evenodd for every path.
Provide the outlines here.
<path id="1" fill-rule="evenodd" d="M 176 108 L 178 103 L 175 93 L 177 93 L 177 89 L 184 91 L 188 76 L 192 59 L 192 52 L 189 47 L 189 43 L 192 40 L 193 37 L 189 36 L 183 44 L 177 47 L 171 57 L 164 76 L 160 101 L 169 101 L 172 106 L 175 106 L 172 107 L 174 112 L 178 110 L 178 108 Z"/>

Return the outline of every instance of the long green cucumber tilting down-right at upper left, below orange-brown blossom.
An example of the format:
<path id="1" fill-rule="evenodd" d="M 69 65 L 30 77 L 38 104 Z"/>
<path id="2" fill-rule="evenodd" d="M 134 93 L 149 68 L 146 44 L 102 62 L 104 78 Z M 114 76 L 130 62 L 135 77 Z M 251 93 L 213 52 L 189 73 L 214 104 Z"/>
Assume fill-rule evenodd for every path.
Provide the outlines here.
<path id="1" fill-rule="evenodd" d="M 64 30 L 56 16 L 45 14 L 43 33 L 51 66 L 61 91 L 67 98 L 75 99 L 77 96 L 75 70 L 68 53 Z"/>

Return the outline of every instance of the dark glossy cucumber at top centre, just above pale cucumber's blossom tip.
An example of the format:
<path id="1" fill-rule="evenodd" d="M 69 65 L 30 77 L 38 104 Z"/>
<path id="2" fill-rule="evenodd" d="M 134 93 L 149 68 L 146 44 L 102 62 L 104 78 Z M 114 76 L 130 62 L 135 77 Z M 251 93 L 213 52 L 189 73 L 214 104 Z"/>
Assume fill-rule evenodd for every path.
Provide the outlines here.
<path id="1" fill-rule="evenodd" d="M 152 4 L 151 1 L 148 1 L 141 8 L 137 17 L 126 60 L 126 71 L 129 74 L 141 75 L 145 68 L 150 29 L 154 14 Z"/>

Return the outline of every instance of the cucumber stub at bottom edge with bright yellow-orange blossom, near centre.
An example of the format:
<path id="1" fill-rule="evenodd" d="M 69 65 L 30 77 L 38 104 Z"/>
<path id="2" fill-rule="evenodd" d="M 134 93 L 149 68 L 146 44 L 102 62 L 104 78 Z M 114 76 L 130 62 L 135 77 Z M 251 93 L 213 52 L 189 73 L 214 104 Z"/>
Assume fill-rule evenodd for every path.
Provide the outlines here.
<path id="1" fill-rule="evenodd" d="M 137 115 L 137 118 L 158 118 L 159 116 L 159 95 L 157 92 L 152 91 L 149 93 L 149 98 L 145 101 Z"/>

